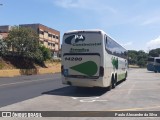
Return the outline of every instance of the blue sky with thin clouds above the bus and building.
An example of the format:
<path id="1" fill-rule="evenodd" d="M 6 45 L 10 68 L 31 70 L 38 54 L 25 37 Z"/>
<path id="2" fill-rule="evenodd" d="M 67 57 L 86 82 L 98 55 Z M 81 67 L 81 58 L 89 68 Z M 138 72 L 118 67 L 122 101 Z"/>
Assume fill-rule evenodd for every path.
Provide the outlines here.
<path id="1" fill-rule="evenodd" d="M 102 29 L 128 50 L 160 48 L 160 0 L 0 0 L 0 25 Z"/>

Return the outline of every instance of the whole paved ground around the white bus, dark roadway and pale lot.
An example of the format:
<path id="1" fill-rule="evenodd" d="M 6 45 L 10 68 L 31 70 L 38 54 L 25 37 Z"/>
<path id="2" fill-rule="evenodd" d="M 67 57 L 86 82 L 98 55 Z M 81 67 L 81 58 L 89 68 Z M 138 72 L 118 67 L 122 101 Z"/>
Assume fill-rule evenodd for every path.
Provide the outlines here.
<path id="1" fill-rule="evenodd" d="M 130 69 L 127 80 L 111 91 L 64 86 L 60 74 L 15 77 L 15 84 L 10 81 L 1 78 L 0 96 L 10 102 L 1 100 L 7 106 L 0 111 L 160 111 L 160 73 L 146 69 Z"/>

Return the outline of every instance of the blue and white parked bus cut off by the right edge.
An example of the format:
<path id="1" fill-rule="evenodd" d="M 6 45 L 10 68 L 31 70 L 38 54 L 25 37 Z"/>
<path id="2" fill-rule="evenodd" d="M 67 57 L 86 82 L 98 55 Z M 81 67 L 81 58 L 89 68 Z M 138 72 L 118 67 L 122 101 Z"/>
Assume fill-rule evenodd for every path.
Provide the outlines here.
<path id="1" fill-rule="evenodd" d="M 147 70 L 160 72 L 160 57 L 149 57 L 147 60 Z"/>

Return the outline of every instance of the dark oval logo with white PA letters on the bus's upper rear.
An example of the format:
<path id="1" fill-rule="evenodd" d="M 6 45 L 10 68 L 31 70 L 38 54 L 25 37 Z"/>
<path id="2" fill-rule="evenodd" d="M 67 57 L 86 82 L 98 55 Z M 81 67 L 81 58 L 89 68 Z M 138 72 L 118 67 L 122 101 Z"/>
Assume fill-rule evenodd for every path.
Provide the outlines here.
<path id="1" fill-rule="evenodd" d="M 65 39 L 66 44 L 74 44 L 78 42 L 83 42 L 85 40 L 85 37 L 83 35 L 71 35 Z"/>

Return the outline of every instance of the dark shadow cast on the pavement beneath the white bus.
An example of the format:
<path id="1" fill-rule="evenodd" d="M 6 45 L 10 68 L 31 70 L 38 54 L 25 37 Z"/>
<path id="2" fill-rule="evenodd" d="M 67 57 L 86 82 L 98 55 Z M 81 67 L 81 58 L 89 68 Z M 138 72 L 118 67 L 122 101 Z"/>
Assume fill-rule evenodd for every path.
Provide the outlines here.
<path id="1" fill-rule="evenodd" d="M 101 96 L 106 92 L 108 92 L 107 88 L 85 88 L 85 87 L 67 86 L 43 92 L 42 94 L 70 96 L 70 97 L 91 97 L 91 96 Z"/>

